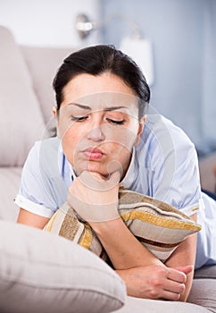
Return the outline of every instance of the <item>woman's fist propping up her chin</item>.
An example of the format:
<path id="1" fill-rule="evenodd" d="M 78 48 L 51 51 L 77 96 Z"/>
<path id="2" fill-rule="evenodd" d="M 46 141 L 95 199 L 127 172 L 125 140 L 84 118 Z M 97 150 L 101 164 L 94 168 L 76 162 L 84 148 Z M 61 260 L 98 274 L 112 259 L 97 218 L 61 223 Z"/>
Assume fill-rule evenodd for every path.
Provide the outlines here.
<path id="1" fill-rule="evenodd" d="M 69 188 L 68 202 L 88 223 L 119 218 L 118 195 L 120 173 L 104 179 L 99 173 L 82 172 Z"/>

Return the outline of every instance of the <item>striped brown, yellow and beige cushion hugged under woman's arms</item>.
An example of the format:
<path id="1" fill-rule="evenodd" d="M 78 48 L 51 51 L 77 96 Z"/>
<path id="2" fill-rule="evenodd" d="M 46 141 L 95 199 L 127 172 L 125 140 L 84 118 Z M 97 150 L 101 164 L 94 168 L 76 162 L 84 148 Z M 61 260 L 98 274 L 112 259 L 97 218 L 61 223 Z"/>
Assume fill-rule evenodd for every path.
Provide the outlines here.
<path id="1" fill-rule="evenodd" d="M 178 209 L 131 190 L 120 190 L 119 212 L 129 230 L 163 262 L 181 241 L 201 229 L 199 224 Z M 67 202 L 55 212 L 45 229 L 76 241 L 108 260 L 89 224 L 82 221 Z"/>

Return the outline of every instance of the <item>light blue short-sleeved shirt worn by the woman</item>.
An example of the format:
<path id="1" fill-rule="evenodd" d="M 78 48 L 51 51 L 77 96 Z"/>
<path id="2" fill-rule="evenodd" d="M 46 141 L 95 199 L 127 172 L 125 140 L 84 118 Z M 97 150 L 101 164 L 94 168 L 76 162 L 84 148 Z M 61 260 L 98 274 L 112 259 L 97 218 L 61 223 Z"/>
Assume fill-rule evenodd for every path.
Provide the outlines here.
<path id="1" fill-rule="evenodd" d="M 23 167 L 15 203 L 29 212 L 51 217 L 67 199 L 71 165 L 58 138 L 37 141 Z M 195 268 L 216 264 L 216 201 L 200 190 L 194 144 L 184 131 L 160 114 L 147 115 L 141 142 L 132 151 L 120 185 L 169 203 L 188 216 L 197 211 Z"/>

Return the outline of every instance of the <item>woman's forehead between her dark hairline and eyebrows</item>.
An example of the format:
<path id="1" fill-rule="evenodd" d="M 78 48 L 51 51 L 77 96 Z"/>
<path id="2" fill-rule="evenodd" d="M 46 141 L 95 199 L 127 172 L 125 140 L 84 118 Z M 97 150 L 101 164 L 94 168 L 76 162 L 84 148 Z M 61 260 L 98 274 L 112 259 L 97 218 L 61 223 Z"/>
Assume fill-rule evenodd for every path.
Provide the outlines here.
<path id="1" fill-rule="evenodd" d="M 135 91 L 111 72 L 96 76 L 83 73 L 72 78 L 63 89 L 61 107 L 73 103 L 88 106 L 91 111 L 122 106 L 129 114 L 137 114 L 138 109 Z"/>

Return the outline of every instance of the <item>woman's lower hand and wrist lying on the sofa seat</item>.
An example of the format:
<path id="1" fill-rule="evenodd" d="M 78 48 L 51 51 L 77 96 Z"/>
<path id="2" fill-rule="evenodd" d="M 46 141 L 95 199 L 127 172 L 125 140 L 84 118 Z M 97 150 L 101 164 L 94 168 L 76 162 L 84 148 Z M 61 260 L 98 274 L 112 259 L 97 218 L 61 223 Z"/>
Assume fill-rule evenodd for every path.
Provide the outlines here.
<path id="1" fill-rule="evenodd" d="M 187 274 L 193 266 L 138 266 L 117 270 L 129 296 L 154 300 L 179 300 L 185 292 Z"/>

